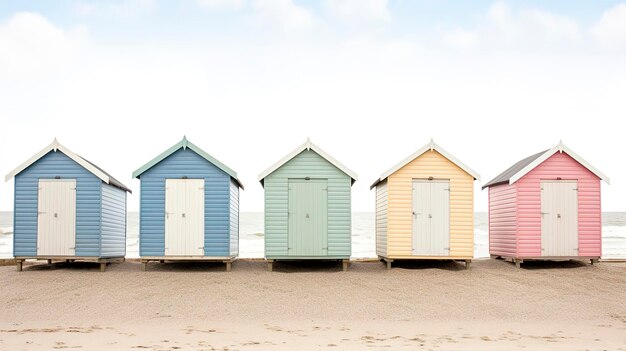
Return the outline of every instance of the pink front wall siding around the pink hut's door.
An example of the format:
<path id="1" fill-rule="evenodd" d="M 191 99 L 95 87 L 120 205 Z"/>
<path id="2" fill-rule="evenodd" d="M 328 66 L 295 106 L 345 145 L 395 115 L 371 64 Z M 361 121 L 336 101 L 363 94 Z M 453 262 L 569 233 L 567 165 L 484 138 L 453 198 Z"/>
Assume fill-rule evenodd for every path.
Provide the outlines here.
<path id="1" fill-rule="evenodd" d="M 600 179 L 566 153 L 556 153 L 515 184 L 519 206 L 519 257 L 541 256 L 541 180 L 578 180 L 580 256 L 601 256 Z"/>

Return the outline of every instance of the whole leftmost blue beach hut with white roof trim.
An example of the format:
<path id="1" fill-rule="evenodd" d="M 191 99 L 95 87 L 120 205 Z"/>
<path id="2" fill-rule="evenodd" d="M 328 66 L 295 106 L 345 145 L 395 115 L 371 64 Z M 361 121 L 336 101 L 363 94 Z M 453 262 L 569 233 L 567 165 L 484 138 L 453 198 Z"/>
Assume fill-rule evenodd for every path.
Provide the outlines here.
<path id="1" fill-rule="evenodd" d="M 13 255 L 106 264 L 126 255 L 126 193 L 100 167 L 54 141 L 7 174 L 15 178 Z"/>

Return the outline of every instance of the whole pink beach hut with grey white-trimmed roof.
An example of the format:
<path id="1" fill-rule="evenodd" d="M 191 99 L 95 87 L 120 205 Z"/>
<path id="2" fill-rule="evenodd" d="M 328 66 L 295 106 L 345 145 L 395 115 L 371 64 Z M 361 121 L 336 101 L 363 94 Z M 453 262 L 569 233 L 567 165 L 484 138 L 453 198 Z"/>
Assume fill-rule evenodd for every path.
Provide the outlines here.
<path id="1" fill-rule="evenodd" d="M 609 178 L 563 143 L 529 156 L 489 188 L 489 253 L 520 267 L 525 260 L 602 255 L 600 181 Z"/>

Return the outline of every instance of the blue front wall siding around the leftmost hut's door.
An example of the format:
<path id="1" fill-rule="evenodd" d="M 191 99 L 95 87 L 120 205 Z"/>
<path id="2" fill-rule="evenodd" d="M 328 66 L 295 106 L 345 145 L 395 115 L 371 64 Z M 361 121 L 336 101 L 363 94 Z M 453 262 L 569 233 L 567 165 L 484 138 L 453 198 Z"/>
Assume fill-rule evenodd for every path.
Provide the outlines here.
<path id="1" fill-rule="evenodd" d="M 102 181 L 61 151 L 51 151 L 15 177 L 14 256 L 37 256 L 39 179 L 76 179 L 76 256 L 100 255 Z"/>

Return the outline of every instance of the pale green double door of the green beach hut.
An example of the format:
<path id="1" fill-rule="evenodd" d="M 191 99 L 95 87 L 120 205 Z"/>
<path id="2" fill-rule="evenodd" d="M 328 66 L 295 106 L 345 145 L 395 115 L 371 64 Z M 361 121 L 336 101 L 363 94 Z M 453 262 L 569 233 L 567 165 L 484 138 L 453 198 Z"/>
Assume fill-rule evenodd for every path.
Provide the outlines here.
<path id="1" fill-rule="evenodd" d="M 289 179 L 289 256 L 328 255 L 327 183 Z"/>

